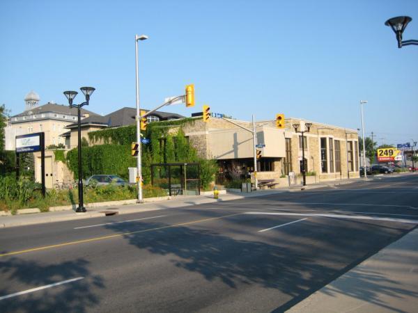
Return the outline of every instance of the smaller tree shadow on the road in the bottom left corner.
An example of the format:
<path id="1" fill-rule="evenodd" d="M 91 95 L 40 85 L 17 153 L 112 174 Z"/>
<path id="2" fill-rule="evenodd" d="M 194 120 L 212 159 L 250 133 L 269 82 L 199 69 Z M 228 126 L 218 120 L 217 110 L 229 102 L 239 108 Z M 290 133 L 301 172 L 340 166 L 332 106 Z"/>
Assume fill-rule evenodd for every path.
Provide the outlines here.
<path id="1" fill-rule="evenodd" d="M 40 264 L 17 257 L 1 260 L 0 296 L 73 278 L 84 279 L 0 300 L 0 312 L 86 312 L 99 303 L 94 289 L 104 288 L 102 278 L 91 275 L 87 267 L 84 259 L 60 264 Z"/>

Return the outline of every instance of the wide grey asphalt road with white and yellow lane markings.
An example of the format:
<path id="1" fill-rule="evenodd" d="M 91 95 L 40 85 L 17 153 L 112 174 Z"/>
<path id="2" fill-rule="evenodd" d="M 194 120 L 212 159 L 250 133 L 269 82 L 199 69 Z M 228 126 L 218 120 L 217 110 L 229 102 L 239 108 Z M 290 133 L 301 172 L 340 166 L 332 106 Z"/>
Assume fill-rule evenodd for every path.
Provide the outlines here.
<path id="1" fill-rule="evenodd" d="M 282 312 L 417 223 L 405 175 L 5 228 L 0 312 Z"/>

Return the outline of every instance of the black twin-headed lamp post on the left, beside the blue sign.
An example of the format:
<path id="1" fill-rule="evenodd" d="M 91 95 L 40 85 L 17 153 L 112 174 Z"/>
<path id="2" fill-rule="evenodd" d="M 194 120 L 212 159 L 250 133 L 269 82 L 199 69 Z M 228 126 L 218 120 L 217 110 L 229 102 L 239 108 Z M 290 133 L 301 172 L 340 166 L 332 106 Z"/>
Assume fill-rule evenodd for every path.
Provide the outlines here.
<path id="1" fill-rule="evenodd" d="M 95 88 L 93 87 L 82 87 L 80 88 L 82 92 L 84 93 L 84 96 L 86 97 L 86 101 L 81 104 L 72 104 L 72 101 L 74 100 L 75 96 L 78 94 L 77 91 L 64 91 L 65 97 L 68 99 L 68 103 L 70 104 L 70 109 L 72 107 L 77 108 L 77 124 L 78 124 L 78 163 L 79 163 L 79 179 L 78 179 L 78 190 L 79 190 L 79 207 L 75 210 L 76 212 L 85 212 L 86 208 L 84 207 L 84 201 L 83 201 L 83 172 L 82 172 L 82 130 L 80 126 L 81 122 L 81 114 L 80 111 L 82 109 L 82 106 L 88 106 L 88 102 L 90 101 L 90 96 L 94 92 Z"/>

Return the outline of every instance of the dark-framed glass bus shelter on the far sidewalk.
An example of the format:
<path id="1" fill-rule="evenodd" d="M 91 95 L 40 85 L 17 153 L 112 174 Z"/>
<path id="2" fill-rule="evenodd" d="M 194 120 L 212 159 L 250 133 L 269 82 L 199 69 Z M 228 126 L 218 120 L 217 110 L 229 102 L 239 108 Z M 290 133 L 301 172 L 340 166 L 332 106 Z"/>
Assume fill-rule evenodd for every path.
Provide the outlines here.
<path id="1" fill-rule="evenodd" d="M 151 184 L 167 190 L 169 195 L 200 195 L 200 164 L 151 164 Z"/>

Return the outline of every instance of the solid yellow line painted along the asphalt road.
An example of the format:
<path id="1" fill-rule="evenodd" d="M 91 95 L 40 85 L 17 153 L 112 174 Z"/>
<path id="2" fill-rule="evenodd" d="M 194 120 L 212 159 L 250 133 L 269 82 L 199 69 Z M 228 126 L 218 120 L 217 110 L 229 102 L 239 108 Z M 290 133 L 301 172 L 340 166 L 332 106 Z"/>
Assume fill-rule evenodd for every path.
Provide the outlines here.
<path id="1" fill-rule="evenodd" d="M 108 236 L 95 237 L 95 238 L 91 238 L 91 239 L 83 239 L 83 240 L 77 240 L 77 241 L 70 241 L 70 242 L 65 242 L 65 243 L 59 243 L 59 244 L 52 245 L 52 246 L 43 246 L 43 247 L 31 248 L 31 249 L 14 251 L 14 252 L 6 252 L 6 253 L 1 254 L 0 257 L 6 257 L 8 255 L 20 255 L 20 254 L 26 253 L 26 252 L 33 252 L 33 251 L 39 251 L 39 250 L 47 250 L 47 249 L 59 248 L 59 247 L 63 247 L 63 246 L 77 245 L 79 243 L 86 243 L 86 242 L 91 242 L 91 241 L 99 241 L 99 240 L 104 240 L 104 239 L 111 239 L 111 238 L 126 236 L 126 235 L 130 235 L 130 234 L 138 234 L 140 232 L 151 232 L 153 230 L 164 230 L 164 228 L 179 227 L 179 226 L 184 226 L 184 225 L 202 223 L 202 222 L 206 222 L 208 220 L 219 220 L 220 218 L 226 218 L 226 217 L 229 217 L 229 216 L 241 215 L 241 214 L 242 213 L 229 214 L 229 215 L 219 216 L 219 217 L 216 217 L 216 218 L 205 218 L 204 220 L 193 220 L 192 222 L 180 223 L 180 224 L 176 224 L 176 225 L 168 225 L 168 226 L 162 226 L 162 227 L 155 227 L 155 228 L 150 228 L 149 230 L 137 230 L 135 232 L 125 232 L 123 234 L 113 234 L 113 235 L 108 235 Z"/>

